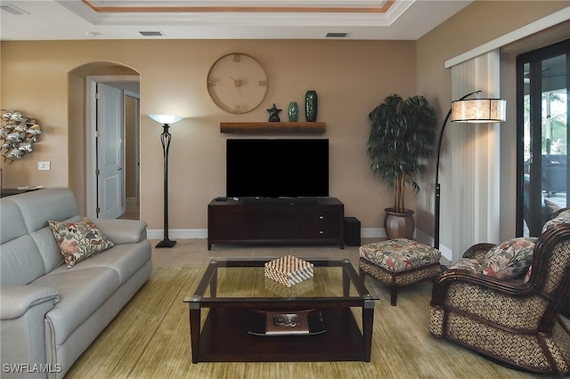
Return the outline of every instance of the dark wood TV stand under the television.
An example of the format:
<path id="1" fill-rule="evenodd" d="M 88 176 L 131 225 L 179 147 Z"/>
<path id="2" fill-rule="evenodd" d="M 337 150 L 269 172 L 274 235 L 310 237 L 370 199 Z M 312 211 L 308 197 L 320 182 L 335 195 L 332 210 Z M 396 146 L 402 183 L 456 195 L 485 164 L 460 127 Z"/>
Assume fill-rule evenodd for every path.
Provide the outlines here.
<path id="1" fill-rule="evenodd" d="M 338 198 L 215 198 L 208 204 L 208 250 L 213 244 L 343 249 L 344 217 Z"/>

